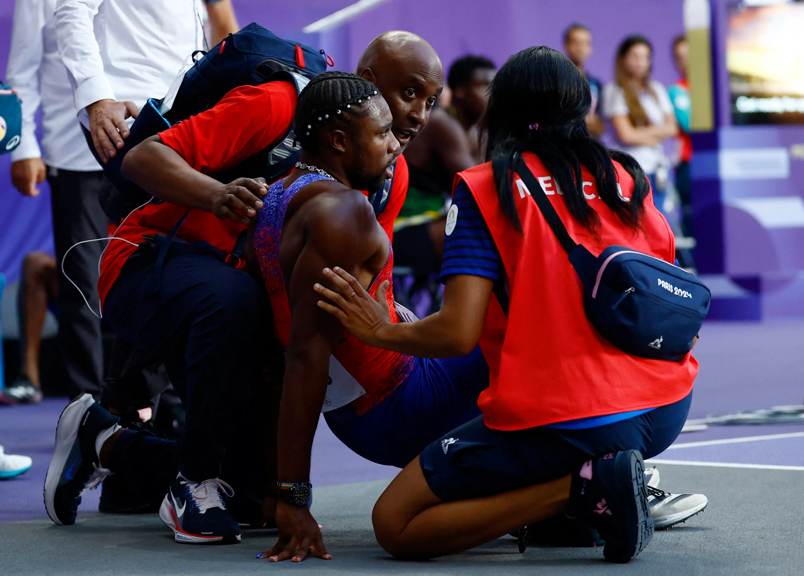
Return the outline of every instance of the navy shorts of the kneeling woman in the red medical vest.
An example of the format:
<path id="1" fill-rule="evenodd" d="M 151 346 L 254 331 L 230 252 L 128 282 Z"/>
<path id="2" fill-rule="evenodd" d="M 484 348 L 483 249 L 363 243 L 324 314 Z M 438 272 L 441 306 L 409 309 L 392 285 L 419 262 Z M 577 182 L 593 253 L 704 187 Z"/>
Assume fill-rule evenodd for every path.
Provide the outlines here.
<path id="1" fill-rule="evenodd" d="M 638 450 L 651 458 L 679 435 L 691 402 L 692 392 L 634 418 L 581 430 L 493 430 L 478 416 L 431 443 L 419 463 L 441 500 L 510 492 L 576 472 L 586 460 L 609 452 Z"/>

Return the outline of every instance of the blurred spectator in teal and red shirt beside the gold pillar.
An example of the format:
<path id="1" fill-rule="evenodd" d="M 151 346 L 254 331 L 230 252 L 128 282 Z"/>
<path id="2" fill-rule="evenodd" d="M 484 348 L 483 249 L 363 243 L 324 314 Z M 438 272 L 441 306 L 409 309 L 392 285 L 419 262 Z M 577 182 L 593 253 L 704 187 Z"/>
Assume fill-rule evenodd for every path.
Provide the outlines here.
<path id="1" fill-rule="evenodd" d="M 675 165 L 675 190 L 681 201 L 681 230 L 683 235 L 692 236 L 692 185 L 690 181 L 690 159 L 692 141 L 690 139 L 690 116 L 692 100 L 690 85 L 687 83 L 687 62 L 689 48 L 687 37 L 677 36 L 673 40 L 673 60 L 681 76 L 668 90 L 675 110 L 675 121 L 679 123 L 678 163 Z"/>

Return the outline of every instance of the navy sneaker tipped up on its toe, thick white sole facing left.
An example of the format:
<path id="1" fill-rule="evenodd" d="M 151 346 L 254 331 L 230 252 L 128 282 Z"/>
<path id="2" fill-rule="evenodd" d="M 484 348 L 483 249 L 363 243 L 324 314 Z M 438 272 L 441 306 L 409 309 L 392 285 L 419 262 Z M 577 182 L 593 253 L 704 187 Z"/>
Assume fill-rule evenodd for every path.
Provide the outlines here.
<path id="1" fill-rule="evenodd" d="M 47 516 L 56 524 L 75 524 L 81 496 L 112 473 L 100 467 L 95 443 L 101 432 L 110 435 L 118 420 L 96 404 L 91 394 L 77 397 L 59 416 L 44 486 Z"/>

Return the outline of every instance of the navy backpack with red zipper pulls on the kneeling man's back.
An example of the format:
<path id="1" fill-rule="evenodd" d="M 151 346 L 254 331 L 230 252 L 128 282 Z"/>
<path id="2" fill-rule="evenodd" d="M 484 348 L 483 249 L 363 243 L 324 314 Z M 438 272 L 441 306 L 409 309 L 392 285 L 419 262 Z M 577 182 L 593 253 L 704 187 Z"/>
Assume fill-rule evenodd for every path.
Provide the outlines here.
<path id="1" fill-rule="evenodd" d="M 198 55 L 201 57 L 195 59 Z M 326 70 L 327 64 L 334 65 L 323 51 L 281 39 L 254 22 L 228 35 L 208 52 L 195 51 L 192 57 L 195 63 L 178 84 L 170 109 L 162 114 L 160 109 L 165 99 L 148 100 L 131 126 L 124 147 L 108 163 L 101 163 L 108 182 L 101 186 L 100 206 L 113 222 L 119 222 L 137 206 L 152 199 L 121 174 L 125 154 L 134 146 L 179 121 L 212 108 L 233 88 L 289 80 L 296 85 L 297 92 L 301 92 L 307 82 Z M 288 133 L 266 149 L 225 173 L 211 176 L 224 183 L 241 177 L 262 177 L 273 182 L 293 169 L 298 159 L 294 140 L 291 126 Z M 95 153 L 91 140 L 89 144 Z"/>

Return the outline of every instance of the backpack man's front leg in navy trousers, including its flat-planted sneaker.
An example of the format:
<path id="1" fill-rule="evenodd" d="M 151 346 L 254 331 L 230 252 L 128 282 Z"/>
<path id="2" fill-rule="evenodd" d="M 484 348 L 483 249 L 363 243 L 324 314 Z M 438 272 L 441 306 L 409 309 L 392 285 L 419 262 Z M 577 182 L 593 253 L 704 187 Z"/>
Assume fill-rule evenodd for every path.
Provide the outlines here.
<path id="1" fill-rule="evenodd" d="M 117 333 L 160 353 L 185 404 L 179 455 L 183 476 L 170 486 L 171 497 L 162 508 L 167 503 L 173 513 L 166 509 L 162 520 L 174 529 L 177 541 L 239 541 L 240 529 L 224 497 L 232 489 L 218 477 L 227 431 L 235 425 L 233 407 L 245 401 L 244 390 L 257 371 L 259 348 L 252 345 L 257 330 L 269 325 L 268 308 L 251 276 L 194 250 L 191 245 L 171 247 L 156 294 L 147 292 L 153 255 L 133 256 L 140 263 L 129 259 L 126 268 L 131 267 L 128 272 L 124 268 L 109 292 L 106 308 Z M 185 511 L 190 500 L 194 505 Z"/>

